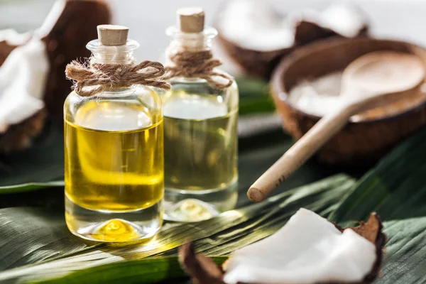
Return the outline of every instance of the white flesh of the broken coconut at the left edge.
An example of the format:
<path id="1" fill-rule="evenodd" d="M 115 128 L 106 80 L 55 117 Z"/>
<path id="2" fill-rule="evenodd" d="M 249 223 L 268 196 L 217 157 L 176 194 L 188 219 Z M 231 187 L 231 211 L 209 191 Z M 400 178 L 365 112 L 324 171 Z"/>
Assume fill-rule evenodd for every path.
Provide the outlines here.
<path id="1" fill-rule="evenodd" d="M 0 66 L 0 134 L 43 109 L 50 63 L 41 40 L 58 21 L 65 1 L 56 1 L 42 26 L 31 33 L 0 31 L 0 41 L 18 45 Z"/>

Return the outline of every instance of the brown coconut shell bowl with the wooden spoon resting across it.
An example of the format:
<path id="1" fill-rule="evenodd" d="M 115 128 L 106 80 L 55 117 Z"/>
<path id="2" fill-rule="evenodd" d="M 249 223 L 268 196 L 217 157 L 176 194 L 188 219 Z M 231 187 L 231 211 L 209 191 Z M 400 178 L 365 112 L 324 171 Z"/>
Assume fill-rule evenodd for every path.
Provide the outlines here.
<path id="1" fill-rule="evenodd" d="M 382 50 L 417 55 L 426 65 L 425 49 L 401 41 L 373 38 L 322 40 L 299 48 L 281 60 L 273 72 L 271 89 L 283 129 L 297 140 L 321 118 L 289 99 L 290 91 L 297 84 L 342 71 L 361 55 Z M 405 99 L 352 116 L 344 129 L 317 152 L 316 158 L 332 165 L 373 165 L 425 124 L 426 92 L 425 84 L 421 84 Z"/>

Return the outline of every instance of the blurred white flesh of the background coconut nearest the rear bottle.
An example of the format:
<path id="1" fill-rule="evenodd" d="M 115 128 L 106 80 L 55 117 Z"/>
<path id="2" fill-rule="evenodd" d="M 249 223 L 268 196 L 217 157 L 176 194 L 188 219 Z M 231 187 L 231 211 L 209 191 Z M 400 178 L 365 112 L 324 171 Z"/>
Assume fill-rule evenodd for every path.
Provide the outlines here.
<path id="1" fill-rule="evenodd" d="M 217 20 L 222 37 L 246 49 L 280 50 L 294 43 L 293 29 L 285 18 L 263 1 L 230 1 Z"/>

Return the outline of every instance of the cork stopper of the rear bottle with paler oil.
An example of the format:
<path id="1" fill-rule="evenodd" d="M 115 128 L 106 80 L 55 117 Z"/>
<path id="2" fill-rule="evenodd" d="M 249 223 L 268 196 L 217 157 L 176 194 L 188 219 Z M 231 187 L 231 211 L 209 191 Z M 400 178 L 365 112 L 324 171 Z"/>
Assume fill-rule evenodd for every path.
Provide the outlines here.
<path id="1" fill-rule="evenodd" d="M 178 27 L 183 33 L 201 33 L 204 31 L 204 11 L 200 7 L 182 8 L 178 14 Z"/>

